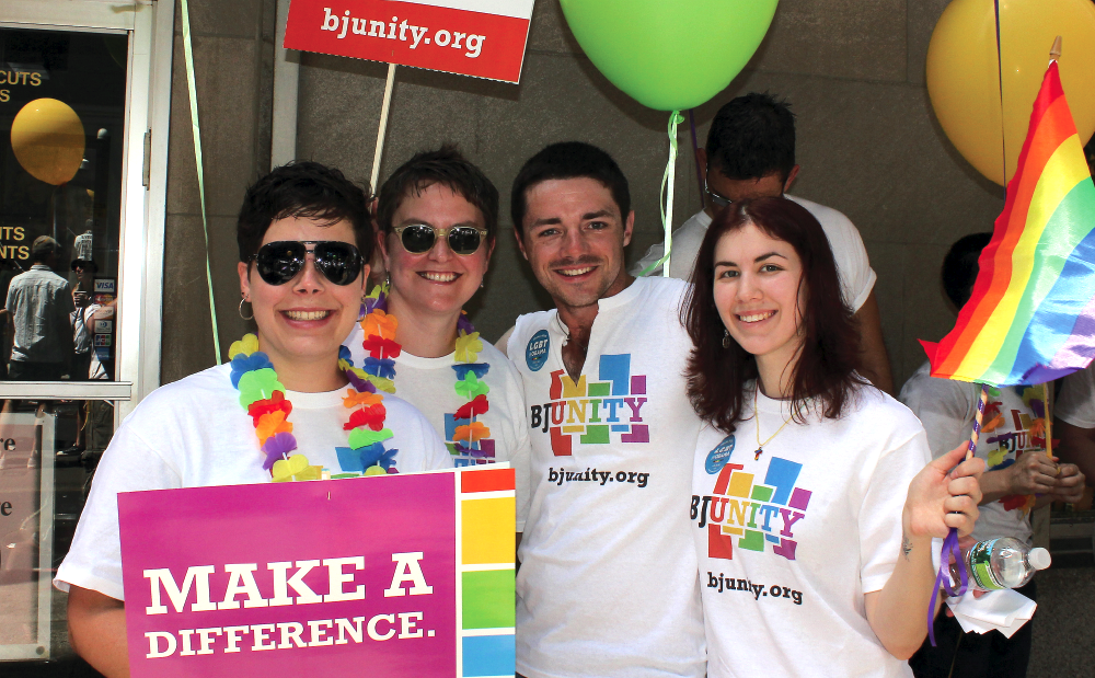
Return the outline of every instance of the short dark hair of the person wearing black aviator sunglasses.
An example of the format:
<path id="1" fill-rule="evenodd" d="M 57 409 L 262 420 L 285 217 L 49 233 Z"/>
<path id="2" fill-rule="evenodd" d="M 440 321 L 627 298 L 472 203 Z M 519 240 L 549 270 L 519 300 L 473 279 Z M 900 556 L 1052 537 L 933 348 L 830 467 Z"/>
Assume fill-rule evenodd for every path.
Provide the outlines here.
<path id="1" fill-rule="evenodd" d="M 293 161 L 260 179 L 243 197 L 235 223 L 240 261 L 247 263 L 258 252 L 272 223 L 287 217 L 320 220 L 334 226 L 345 219 L 354 227 L 357 249 L 366 262 L 372 258 L 373 235 L 369 220 L 369 186 L 365 188 L 342 172 L 319 162 Z"/>

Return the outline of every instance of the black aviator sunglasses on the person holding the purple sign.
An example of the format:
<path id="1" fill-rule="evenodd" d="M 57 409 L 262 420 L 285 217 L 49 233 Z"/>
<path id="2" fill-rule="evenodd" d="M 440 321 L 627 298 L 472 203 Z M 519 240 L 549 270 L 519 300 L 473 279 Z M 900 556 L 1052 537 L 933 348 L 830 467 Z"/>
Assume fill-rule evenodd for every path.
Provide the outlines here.
<path id="1" fill-rule="evenodd" d="M 258 248 L 251 258 L 255 262 L 258 276 L 267 285 L 285 285 L 304 269 L 309 253 L 315 257 L 315 269 L 335 285 L 349 285 L 357 279 L 365 265 L 356 246 L 337 240 L 268 242 Z"/>

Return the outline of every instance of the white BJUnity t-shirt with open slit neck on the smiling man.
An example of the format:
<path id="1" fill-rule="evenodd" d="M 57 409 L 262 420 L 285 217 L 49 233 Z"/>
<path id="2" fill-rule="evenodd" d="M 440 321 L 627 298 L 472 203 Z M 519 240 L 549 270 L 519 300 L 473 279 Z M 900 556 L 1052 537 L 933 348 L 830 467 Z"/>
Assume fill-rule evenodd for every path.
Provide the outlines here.
<path id="1" fill-rule="evenodd" d="M 577 384 L 557 311 L 522 315 L 509 340 L 532 438 L 517 575 L 517 671 L 529 678 L 704 675 L 681 502 L 702 425 L 682 376 L 687 288 L 638 278 L 601 299 Z"/>

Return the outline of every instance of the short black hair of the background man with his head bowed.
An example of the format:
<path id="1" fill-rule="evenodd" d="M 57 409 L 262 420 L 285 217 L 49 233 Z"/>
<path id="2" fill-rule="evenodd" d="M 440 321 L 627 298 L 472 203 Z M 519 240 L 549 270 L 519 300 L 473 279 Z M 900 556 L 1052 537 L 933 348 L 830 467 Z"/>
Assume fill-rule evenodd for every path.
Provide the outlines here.
<path id="1" fill-rule="evenodd" d="M 787 181 L 795 166 L 795 114 L 768 92 L 751 92 L 718 110 L 707 133 L 707 166 L 728 179 L 777 173 Z"/>

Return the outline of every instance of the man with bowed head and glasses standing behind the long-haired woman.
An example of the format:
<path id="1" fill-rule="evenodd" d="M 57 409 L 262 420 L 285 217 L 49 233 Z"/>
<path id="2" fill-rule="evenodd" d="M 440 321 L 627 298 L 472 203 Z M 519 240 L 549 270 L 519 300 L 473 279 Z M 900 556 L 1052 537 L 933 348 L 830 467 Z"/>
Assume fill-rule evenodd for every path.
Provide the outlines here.
<path id="1" fill-rule="evenodd" d="M 769 94 L 738 96 L 719 108 L 711 122 L 703 166 L 704 209 L 673 231 L 669 275 L 687 280 L 692 275 L 700 243 L 712 218 L 734 200 L 784 195 L 798 176 L 795 164 L 795 115 L 789 104 Z M 863 356 L 860 372 L 876 387 L 894 394 L 889 356 L 883 343 L 875 272 L 855 226 L 843 214 L 810 200 L 786 195 L 821 222 L 840 274 L 844 301 L 860 322 Z M 656 243 L 632 268 L 634 275 L 661 275 L 662 244 Z M 647 273 L 647 269 L 650 269 Z"/>

